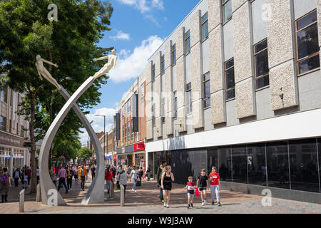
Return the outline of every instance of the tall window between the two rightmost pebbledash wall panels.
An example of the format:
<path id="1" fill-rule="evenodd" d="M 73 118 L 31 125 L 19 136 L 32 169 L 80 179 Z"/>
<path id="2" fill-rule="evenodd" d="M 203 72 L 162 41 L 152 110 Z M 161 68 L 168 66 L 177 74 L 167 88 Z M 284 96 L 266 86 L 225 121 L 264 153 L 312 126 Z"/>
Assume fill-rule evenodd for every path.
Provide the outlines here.
<path id="1" fill-rule="evenodd" d="M 269 58 L 267 56 L 267 39 L 254 46 L 256 89 L 269 86 Z"/>

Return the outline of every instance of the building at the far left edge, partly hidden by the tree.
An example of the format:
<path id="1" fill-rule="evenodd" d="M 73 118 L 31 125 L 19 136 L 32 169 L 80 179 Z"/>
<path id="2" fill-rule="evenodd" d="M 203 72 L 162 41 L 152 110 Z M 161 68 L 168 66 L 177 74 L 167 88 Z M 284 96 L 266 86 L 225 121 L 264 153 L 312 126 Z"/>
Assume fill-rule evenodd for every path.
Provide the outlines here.
<path id="1" fill-rule="evenodd" d="M 23 95 L 8 86 L 0 90 L 0 165 L 12 175 L 15 167 L 30 166 L 31 153 L 24 142 L 29 141 L 29 122 L 18 115 Z"/>

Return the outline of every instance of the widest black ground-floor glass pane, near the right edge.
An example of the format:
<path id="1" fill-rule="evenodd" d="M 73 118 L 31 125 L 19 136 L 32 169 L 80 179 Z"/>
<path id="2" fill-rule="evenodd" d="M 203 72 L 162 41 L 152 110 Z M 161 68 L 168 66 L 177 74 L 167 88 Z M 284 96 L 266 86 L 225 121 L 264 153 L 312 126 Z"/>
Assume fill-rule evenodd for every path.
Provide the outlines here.
<path id="1" fill-rule="evenodd" d="M 317 170 L 317 140 L 290 141 L 291 189 L 320 192 Z"/>

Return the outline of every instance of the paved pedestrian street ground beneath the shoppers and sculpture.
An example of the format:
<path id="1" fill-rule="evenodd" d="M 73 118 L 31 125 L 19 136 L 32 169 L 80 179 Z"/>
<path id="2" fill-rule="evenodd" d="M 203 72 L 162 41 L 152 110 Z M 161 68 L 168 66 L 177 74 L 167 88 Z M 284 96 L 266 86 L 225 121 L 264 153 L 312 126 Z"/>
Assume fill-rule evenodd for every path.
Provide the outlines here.
<path id="1" fill-rule="evenodd" d="M 126 188 L 125 206 L 120 207 L 120 192 L 116 190 L 111 199 L 108 199 L 105 190 L 105 203 L 82 205 L 81 200 L 86 195 L 88 187 L 91 185 L 91 177 L 86 180 L 85 191 L 80 191 L 80 183 L 75 185 L 70 192 L 65 194 L 65 190 L 60 190 L 67 205 L 62 207 L 50 207 L 41 202 L 36 202 L 35 194 L 26 194 L 24 213 L 31 214 L 321 214 L 321 204 L 298 202 L 287 199 L 271 199 L 271 205 L 264 207 L 263 196 L 248 195 L 240 192 L 222 190 L 220 192 L 221 207 L 207 204 L 201 206 L 200 197 L 195 197 L 194 207 L 187 209 L 187 194 L 183 190 L 184 185 L 173 184 L 170 195 L 170 207 L 164 208 L 158 199 L 159 190 L 156 182 L 144 181 L 141 187 L 137 187 L 137 192 L 131 188 L 133 184 L 128 182 Z M 19 213 L 19 191 L 11 187 L 9 192 L 9 202 L 0 203 L 0 214 Z M 211 203 L 210 191 L 207 192 L 207 201 Z"/>

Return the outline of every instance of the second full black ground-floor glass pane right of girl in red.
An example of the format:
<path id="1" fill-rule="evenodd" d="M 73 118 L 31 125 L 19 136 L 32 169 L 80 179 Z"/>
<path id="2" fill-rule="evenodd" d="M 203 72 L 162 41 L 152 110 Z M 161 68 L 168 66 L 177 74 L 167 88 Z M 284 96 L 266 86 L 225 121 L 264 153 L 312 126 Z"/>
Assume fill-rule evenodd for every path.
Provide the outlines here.
<path id="1" fill-rule="evenodd" d="M 232 147 L 233 182 L 248 183 L 246 147 Z"/>

